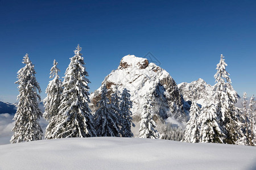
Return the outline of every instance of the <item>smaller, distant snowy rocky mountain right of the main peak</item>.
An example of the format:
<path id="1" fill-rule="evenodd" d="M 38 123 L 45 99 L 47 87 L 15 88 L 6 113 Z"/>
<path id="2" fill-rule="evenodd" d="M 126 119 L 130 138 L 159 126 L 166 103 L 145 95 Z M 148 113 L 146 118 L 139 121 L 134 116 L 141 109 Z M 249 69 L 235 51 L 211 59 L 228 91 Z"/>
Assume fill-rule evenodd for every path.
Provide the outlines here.
<path id="1" fill-rule="evenodd" d="M 189 101 L 189 103 L 196 101 L 198 104 L 204 104 L 204 100 L 213 92 L 213 87 L 201 78 L 191 83 L 180 83 L 177 86 L 184 100 Z"/>

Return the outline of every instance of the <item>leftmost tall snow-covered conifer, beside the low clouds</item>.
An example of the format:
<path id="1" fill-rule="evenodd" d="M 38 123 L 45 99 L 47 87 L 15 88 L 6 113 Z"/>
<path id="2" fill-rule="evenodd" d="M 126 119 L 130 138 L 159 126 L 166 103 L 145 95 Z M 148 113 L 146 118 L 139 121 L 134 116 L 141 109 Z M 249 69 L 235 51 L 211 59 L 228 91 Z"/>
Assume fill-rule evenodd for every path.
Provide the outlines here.
<path id="1" fill-rule="evenodd" d="M 24 56 L 22 63 L 25 66 L 18 71 L 18 81 L 15 82 L 19 84 L 17 97 L 19 102 L 14 116 L 14 134 L 11 137 L 11 143 L 36 141 L 43 137 L 43 130 L 39 124 L 42 112 L 38 108 L 38 101 L 41 100 L 38 94 L 41 92 L 40 86 L 36 81 L 34 65 L 28 58 L 28 54 Z"/>

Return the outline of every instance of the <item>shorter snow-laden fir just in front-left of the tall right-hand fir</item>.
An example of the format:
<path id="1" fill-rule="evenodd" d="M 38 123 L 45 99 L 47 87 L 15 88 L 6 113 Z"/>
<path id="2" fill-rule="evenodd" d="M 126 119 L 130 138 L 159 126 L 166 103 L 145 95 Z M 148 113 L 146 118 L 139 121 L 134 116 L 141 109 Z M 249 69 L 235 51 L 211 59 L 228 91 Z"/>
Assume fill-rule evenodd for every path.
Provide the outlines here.
<path id="1" fill-rule="evenodd" d="M 216 105 L 208 99 L 207 104 L 201 109 L 200 141 L 203 143 L 224 143 L 225 134 L 220 126 L 220 118 Z"/>

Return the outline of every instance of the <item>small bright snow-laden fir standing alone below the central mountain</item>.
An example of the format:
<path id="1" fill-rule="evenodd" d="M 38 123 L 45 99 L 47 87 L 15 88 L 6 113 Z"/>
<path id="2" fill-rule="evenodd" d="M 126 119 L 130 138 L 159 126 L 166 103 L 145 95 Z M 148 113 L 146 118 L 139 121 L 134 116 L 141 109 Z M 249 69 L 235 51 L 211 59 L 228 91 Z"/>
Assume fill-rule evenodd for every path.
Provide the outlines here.
<path id="1" fill-rule="evenodd" d="M 140 138 L 152 138 L 152 139 L 158 139 L 159 133 L 155 129 L 156 124 L 153 120 L 152 116 L 152 104 L 150 97 L 148 97 L 148 94 L 146 95 L 146 103 L 143 105 L 143 111 L 141 114 L 141 124 L 139 128 L 139 137 Z"/>

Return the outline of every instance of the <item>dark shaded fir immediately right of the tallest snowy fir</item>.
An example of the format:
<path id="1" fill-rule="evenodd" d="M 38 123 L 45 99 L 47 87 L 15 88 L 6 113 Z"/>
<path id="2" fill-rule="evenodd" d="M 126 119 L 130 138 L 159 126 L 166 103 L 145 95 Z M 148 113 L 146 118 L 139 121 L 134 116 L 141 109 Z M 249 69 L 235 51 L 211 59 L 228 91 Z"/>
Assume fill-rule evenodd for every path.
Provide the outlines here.
<path id="1" fill-rule="evenodd" d="M 94 122 L 98 137 L 119 137 L 118 118 L 115 113 L 115 106 L 106 97 L 108 90 L 106 86 L 101 88 L 101 100 L 98 101 L 99 107 L 94 114 Z"/>

